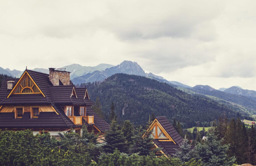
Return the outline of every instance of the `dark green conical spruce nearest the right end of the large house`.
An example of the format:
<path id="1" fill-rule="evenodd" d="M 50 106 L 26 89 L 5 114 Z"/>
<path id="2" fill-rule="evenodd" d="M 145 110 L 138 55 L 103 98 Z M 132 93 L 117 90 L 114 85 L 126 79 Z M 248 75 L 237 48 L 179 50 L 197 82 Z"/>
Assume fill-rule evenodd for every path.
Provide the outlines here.
<path id="1" fill-rule="evenodd" d="M 118 127 L 119 125 L 117 122 L 112 121 L 110 124 L 110 130 L 105 132 L 106 144 L 103 146 L 105 152 L 113 153 L 115 149 L 118 149 L 124 153 L 128 152 L 126 138 Z"/>

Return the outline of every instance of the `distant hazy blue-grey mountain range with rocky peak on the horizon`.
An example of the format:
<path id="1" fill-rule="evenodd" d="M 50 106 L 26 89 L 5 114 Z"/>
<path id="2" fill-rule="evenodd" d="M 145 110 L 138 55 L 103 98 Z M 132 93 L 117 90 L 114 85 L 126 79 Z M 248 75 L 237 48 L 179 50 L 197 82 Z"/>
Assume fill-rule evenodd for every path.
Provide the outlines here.
<path id="1" fill-rule="evenodd" d="M 110 65 L 110 64 L 99 64 L 97 66 L 92 67 L 92 66 L 81 66 L 79 64 L 72 64 L 68 66 L 63 66 L 61 68 L 66 68 L 66 71 L 71 72 L 70 79 L 75 85 L 79 85 L 85 82 L 103 81 L 113 74 L 124 73 L 124 74 L 132 74 L 132 75 L 138 75 L 138 76 L 144 76 L 147 78 L 156 79 L 160 82 L 166 82 L 173 87 L 186 88 L 188 90 L 201 93 L 204 95 L 205 95 L 205 92 L 202 92 L 204 90 L 214 91 L 215 93 L 216 91 L 217 92 L 219 91 L 220 94 L 222 94 L 221 92 L 226 92 L 230 94 L 250 97 L 251 99 L 256 100 L 256 91 L 254 90 L 245 90 L 239 86 L 232 86 L 230 88 L 220 88 L 219 90 L 216 90 L 208 85 L 196 85 L 195 87 L 190 87 L 188 85 L 182 84 L 177 81 L 168 81 L 163 77 L 154 75 L 152 73 L 145 73 L 145 71 L 141 68 L 140 65 L 132 61 L 123 61 L 117 66 Z M 49 73 L 49 70 L 44 68 L 35 68 L 32 70 L 42 72 L 42 73 L 47 73 L 47 74 Z M 2 67 L 0 67 L 0 74 L 6 74 L 13 77 L 20 77 L 22 73 L 23 71 L 19 71 L 16 69 L 10 70 L 9 68 L 3 69 Z M 223 95 L 218 95 L 218 96 L 223 96 Z"/>

